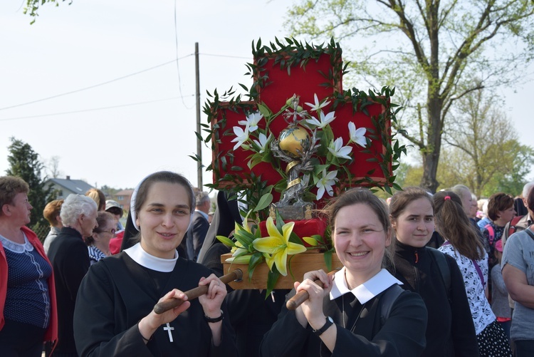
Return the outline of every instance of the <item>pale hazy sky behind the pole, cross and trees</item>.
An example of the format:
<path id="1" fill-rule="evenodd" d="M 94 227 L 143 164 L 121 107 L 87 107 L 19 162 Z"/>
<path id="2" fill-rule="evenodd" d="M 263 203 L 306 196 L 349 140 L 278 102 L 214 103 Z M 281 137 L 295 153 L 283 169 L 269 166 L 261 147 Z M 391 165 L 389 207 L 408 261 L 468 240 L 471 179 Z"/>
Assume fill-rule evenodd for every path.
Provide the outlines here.
<path id="1" fill-rule="evenodd" d="M 62 177 L 114 188 L 135 187 L 157 170 L 197 185 L 189 157 L 197 150 L 195 43 L 204 106 L 206 90 L 251 85 L 251 43 L 286 36 L 292 3 L 73 0 L 43 5 L 31 25 L 24 2 L 0 1 L 0 175 L 14 137 L 45 164 L 58 157 Z M 525 85 L 503 90 L 503 110 L 520 142 L 534 146 L 530 73 Z M 209 165 L 210 150 L 202 155 Z M 211 172 L 203 181 L 211 183 Z"/>

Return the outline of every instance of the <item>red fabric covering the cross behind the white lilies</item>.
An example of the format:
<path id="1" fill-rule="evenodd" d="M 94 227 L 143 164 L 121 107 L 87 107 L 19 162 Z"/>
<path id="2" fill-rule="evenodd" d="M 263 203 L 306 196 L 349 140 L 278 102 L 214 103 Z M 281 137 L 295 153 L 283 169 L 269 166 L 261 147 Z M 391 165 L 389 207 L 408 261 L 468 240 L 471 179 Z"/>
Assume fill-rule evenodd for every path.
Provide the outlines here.
<path id="1" fill-rule="evenodd" d="M 341 58 L 338 58 L 341 61 Z M 258 59 L 256 58 L 256 63 Z M 333 71 L 333 66 L 330 63 L 331 58 L 328 54 L 323 54 L 318 58 L 318 61 L 310 60 L 306 66 L 293 66 L 288 73 L 287 68 L 281 68 L 279 64 L 275 64 L 273 58 L 270 58 L 266 65 L 263 67 L 265 71 L 261 71 L 261 76 L 268 76 L 268 84 L 263 88 L 256 88 L 258 90 L 258 100 L 260 103 L 266 105 L 273 113 L 277 113 L 283 105 L 286 104 L 286 100 L 292 97 L 293 94 L 300 96 L 300 105 L 308 110 L 309 106 L 305 103 L 314 103 L 314 94 L 318 95 L 319 100 L 323 100 L 333 95 L 336 91 L 342 93 L 341 82 L 335 83 L 333 80 L 328 81 L 323 73 L 330 73 Z M 325 86 L 327 84 L 327 86 Z M 382 172 L 379 162 L 382 161 L 380 155 L 384 154 L 385 149 L 382 145 L 382 136 L 386 135 L 390 137 L 390 128 L 387 129 L 387 133 L 380 133 L 379 130 L 372 123 L 372 117 L 379 115 L 384 111 L 384 107 L 380 104 L 367 105 L 365 110 L 369 115 L 366 115 L 361 110 L 353 113 L 352 102 L 350 98 L 347 98 L 345 104 L 338 105 L 335 110 L 336 119 L 330 123 L 330 127 L 333 130 L 335 138 L 342 138 L 343 144 L 347 145 L 349 140 L 348 123 L 352 121 L 355 123 L 356 128 L 368 128 L 365 134 L 366 138 L 370 138 L 370 148 L 362 148 L 359 145 L 352 143 L 354 160 L 347 164 L 347 168 L 355 180 L 361 180 L 363 177 L 370 177 L 375 182 L 384 182 L 384 172 Z M 231 103 L 220 103 L 221 108 L 215 113 L 216 120 L 214 124 L 220 125 L 216 130 L 216 135 L 213 136 L 214 150 L 213 150 L 213 167 L 214 167 L 214 183 L 218 185 L 219 190 L 233 187 L 234 183 L 229 181 L 222 181 L 221 178 L 227 173 L 231 175 L 238 175 L 246 179 L 250 172 L 253 172 L 256 176 L 261 175 L 261 180 L 266 181 L 267 185 L 276 185 L 282 177 L 273 169 L 271 163 L 260 162 L 258 165 L 250 170 L 247 166 L 247 162 L 250 159 L 253 152 L 249 150 L 243 150 L 237 148 L 234 150 L 235 143 L 231 140 L 235 138 L 234 126 L 239 125 L 239 120 L 246 120 L 247 110 L 256 110 L 254 107 L 255 102 L 241 102 L 240 105 Z M 325 113 L 332 110 L 332 103 L 323 108 Z M 312 113 L 315 115 L 315 113 Z M 225 122 L 225 120 L 226 122 Z M 259 126 L 265 128 L 266 122 L 262 120 Z M 281 131 L 287 128 L 288 123 L 283 120 L 282 115 L 269 125 L 273 135 L 278 138 Z M 362 151 L 370 150 L 371 153 L 364 153 Z M 375 161 L 367 161 L 367 160 Z M 224 162 L 226 160 L 226 162 Z M 281 162 L 281 170 L 286 170 L 286 162 Z M 388 167 L 389 173 L 392 172 L 391 165 Z M 363 182 L 360 185 L 365 185 Z M 317 192 L 317 189 L 312 190 L 313 193 Z M 280 194 L 273 191 L 273 202 L 280 200 Z"/>

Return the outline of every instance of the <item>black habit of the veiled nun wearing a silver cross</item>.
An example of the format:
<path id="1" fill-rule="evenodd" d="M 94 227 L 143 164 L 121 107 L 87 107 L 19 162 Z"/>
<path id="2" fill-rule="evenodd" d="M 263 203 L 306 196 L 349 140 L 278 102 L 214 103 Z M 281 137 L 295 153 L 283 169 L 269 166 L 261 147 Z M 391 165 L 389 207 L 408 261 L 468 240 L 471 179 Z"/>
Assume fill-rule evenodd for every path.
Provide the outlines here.
<path id="1" fill-rule="evenodd" d="M 162 273 L 142 267 L 125 252 L 94 264 L 80 286 L 76 301 L 74 334 L 80 356 L 235 356 L 234 332 L 223 320 L 220 346 L 211 343 L 211 330 L 198 299 L 170 323 L 162 325 L 146 345 L 137 322 L 157 301 L 177 288 L 198 286 L 211 271 L 178 258 L 174 270 Z M 223 304 L 226 316 L 226 306 Z"/>

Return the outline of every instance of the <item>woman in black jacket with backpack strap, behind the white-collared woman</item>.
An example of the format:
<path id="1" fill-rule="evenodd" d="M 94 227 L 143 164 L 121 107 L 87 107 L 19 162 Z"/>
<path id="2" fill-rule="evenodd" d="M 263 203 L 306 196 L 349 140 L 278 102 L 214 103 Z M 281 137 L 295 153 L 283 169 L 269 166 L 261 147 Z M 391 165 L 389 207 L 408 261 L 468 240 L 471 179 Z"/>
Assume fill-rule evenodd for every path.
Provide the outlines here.
<path id="1" fill-rule="evenodd" d="M 453 258 L 425 247 L 434 232 L 434 201 L 429 192 L 404 187 L 393 195 L 389 212 L 396 241 L 395 276 L 404 289 L 421 295 L 429 314 L 421 356 L 478 356 L 461 272 Z"/>

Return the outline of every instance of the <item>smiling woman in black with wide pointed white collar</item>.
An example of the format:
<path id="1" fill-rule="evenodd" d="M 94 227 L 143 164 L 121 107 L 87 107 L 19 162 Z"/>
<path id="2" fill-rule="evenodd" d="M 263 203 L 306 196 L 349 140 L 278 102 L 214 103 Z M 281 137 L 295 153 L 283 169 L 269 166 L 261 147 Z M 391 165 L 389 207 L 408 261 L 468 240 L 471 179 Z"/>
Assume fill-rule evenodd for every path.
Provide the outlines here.
<path id="1" fill-rule="evenodd" d="M 330 205 L 328 216 L 344 267 L 334 277 L 311 271 L 295 282 L 293 293 L 305 290 L 310 298 L 295 311 L 283 308 L 263 336 L 261 355 L 419 356 L 425 346 L 424 302 L 382 269 L 392 267 L 386 207 L 369 190 L 352 189 Z"/>

